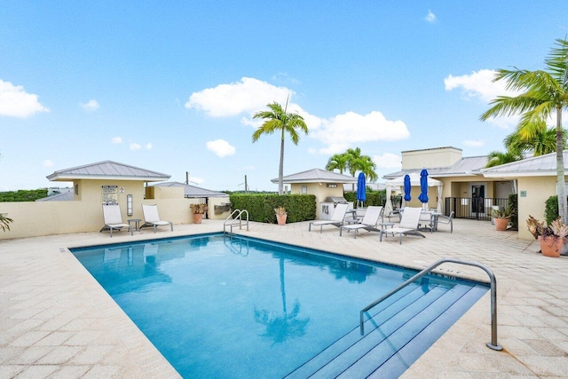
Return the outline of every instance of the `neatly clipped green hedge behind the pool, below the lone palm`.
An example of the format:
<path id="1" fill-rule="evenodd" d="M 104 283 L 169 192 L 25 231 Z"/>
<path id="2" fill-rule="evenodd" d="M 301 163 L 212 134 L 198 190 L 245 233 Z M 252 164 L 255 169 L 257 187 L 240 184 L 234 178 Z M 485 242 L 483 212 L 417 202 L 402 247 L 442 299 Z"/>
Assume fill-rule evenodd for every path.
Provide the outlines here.
<path id="1" fill-rule="evenodd" d="M 297 223 L 316 218 L 316 197 L 312 194 L 233 193 L 229 196 L 233 209 L 247 209 L 248 219 L 276 224 L 274 209 L 284 207 L 288 213 L 286 223 Z"/>

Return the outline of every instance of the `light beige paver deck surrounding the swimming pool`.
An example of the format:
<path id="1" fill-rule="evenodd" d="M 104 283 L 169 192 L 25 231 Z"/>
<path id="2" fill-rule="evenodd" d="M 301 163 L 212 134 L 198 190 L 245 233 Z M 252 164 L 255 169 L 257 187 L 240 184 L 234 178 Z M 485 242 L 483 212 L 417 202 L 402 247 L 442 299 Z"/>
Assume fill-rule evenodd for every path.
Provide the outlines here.
<path id="1" fill-rule="evenodd" d="M 485 295 L 403 377 L 568 377 L 568 257 L 542 257 L 536 241 L 496 232 L 489 222 L 454 221 L 426 238 L 379 242 L 378 233 L 343 233 L 308 223 L 251 223 L 236 233 L 421 269 L 442 257 L 477 261 L 497 278 L 498 343 Z M 524 225 L 521 225 L 523 227 Z M 223 230 L 221 221 L 162 230 L 76 233 L 0 241 L 0 378 L 167 378 L 177 372 L 106 294 L 70 247 Z M 485 272 L 445 264 L 438 272 L 486 281 Z M 377 297 L 381 294 L 377 294 Z"/>

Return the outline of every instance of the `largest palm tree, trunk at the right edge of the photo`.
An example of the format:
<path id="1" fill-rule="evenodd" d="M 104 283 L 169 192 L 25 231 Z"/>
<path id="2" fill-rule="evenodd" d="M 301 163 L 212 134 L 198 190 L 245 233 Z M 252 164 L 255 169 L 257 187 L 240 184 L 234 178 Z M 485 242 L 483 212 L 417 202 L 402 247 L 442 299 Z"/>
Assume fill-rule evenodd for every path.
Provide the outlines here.
<path id="1" fill-rule="evenodd" d="M 564 129 L 562 111 L 568 107 L 568 41 L 556 40 L 545 70 L 506 70 L 497 71 L 493 82 L 504 80 L 506 88 L 521 91 L 517 96 L 499 96 L 493 99 L 489 108 L 481 114 L 482 121 L 490 117 L 522 114 L 519 128 L 530 134 L 536 122 L 546 120 L 556 111 L 556 193 L 558 194 L 558 213 L 568 220 L 568 201 L 564 188 Z"/>

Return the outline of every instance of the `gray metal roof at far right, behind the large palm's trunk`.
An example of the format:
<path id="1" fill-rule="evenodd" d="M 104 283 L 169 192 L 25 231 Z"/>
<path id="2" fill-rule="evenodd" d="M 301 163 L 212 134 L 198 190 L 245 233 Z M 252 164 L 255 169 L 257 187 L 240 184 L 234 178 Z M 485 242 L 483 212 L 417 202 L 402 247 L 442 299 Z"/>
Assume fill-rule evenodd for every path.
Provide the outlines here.
<path id="1" fill-rule="evenodd" d="M 568 170 L 568 150 L 564 150 L 564 170 Z M 533 156 L 522 161 L 481 170 L 487 178 L 556 176 L 556 153 Z"/>

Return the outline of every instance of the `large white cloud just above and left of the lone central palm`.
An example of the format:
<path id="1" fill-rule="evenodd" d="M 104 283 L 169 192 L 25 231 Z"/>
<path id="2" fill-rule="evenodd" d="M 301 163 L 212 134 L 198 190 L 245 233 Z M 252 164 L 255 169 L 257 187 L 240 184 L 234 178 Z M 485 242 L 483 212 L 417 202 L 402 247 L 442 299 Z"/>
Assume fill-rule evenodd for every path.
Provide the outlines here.
<path id="1" fill-rule="evenodd" d="M 240 82 L 219 84 L 214 88 L 193 92 L 185 107 L 202 110 L 212 117 L 252 114 L 273 101 L 285 103 L 287 97 L 293 93 L 285 87 L 243 77 Z"/>

